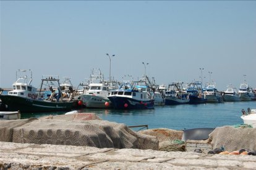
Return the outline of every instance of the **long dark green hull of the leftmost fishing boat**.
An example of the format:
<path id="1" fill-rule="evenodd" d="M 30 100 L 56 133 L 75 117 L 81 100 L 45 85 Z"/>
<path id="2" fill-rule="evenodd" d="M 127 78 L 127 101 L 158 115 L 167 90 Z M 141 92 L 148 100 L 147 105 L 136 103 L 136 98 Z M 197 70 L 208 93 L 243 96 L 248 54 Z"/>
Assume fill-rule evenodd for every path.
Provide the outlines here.
<path id="1" fill-rule="evenodd" d="M 75 102 L 49 102 L 15 95 L 0 95 L 0 99 L 7 105 L 8 111 L 19 110 L 21 113 L 71 110 L 75 105 Z"/>

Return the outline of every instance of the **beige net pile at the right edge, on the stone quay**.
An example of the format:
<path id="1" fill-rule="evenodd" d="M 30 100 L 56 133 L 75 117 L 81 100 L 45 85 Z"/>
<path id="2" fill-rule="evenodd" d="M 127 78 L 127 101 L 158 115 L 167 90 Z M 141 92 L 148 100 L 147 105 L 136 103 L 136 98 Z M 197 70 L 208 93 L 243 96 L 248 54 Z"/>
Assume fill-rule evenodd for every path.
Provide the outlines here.
<path id="1" fill-rule="evenodd" d="M 209 137 L 213 148 L 223 146 L 228 152 L 241 148 L 256 150 L 256 128 L 216 127 Z"/>

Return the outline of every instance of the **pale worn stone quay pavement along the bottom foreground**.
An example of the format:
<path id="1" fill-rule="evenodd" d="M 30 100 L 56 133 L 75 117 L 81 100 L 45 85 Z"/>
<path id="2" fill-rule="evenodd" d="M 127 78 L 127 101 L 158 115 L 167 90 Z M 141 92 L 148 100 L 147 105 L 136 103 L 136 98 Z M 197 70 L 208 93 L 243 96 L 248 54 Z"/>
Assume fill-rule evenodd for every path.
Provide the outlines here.
<path id="1" fill-rule="evenodd" d="M 0 142 L 0 169 L 256 169 L 256 156 Z"/>

